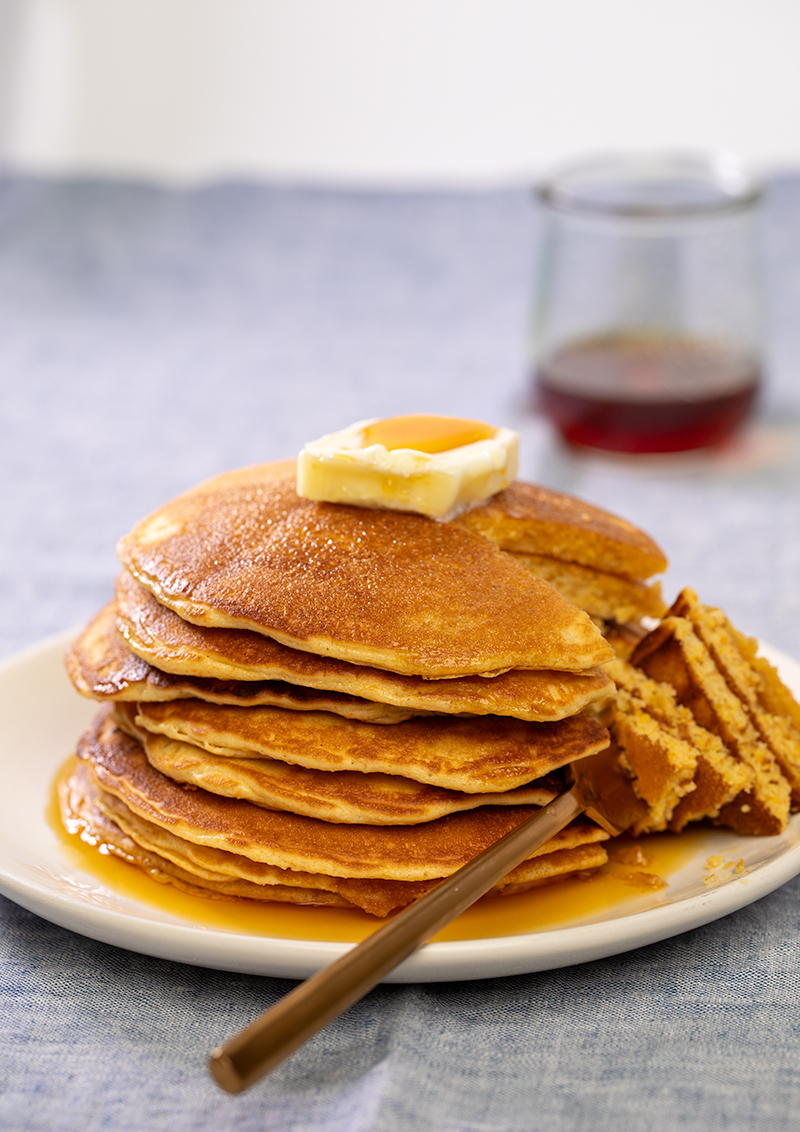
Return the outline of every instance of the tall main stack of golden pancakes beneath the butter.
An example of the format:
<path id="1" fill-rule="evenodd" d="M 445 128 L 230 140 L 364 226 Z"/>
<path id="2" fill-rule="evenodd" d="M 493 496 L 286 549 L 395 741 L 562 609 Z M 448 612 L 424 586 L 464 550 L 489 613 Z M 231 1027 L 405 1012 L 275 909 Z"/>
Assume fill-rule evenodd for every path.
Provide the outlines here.
<path id="1" fill-rule="evenodd" d="M 200 484 L 119 552 L 115 601 L 68 655 L 106 702 L 68 827 L 189 891 L 376 915 L 608 745 L 591 709 L 612 651 L 536 575 L 617 620 L 659 608 L 644 580 L 664 565 L 636 528 L 527 484 L 438 523 L 301 499 L 293 464 Z M 605 838 L 578 820 L 498 891 L 596 868 Z"/>

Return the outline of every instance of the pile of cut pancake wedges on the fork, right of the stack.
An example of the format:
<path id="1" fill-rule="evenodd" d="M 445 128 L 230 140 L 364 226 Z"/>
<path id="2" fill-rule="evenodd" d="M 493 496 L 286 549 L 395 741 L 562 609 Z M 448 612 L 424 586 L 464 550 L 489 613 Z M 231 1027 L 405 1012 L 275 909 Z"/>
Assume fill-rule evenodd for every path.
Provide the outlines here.
<path id="1" fill-rule="evenodd" d="M 647 801 L 635 832 L 712 818 L 738 833 L 781 833 L 800 808 L 800 706 L 720 609 L 683 590 L 638 642 L 605 666 L 612 729 Z"/>

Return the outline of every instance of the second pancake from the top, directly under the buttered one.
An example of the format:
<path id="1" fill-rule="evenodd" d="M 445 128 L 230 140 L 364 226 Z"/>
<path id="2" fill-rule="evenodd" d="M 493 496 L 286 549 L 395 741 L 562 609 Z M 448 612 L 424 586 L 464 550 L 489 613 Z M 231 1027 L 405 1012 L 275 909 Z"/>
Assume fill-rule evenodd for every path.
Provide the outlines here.
<path id="1" fill-rule="evenodd" d="M 117 624 L 126 644 L 139 659 L 172 675 L 229 681 L 282 680 L 414 713 L 513 715 L 528 721 L 575 715 L 613 692 L 611 680 L 599 669 L 580 674 L 515 670 L 492 679 L 467 676 L 425 680 L 316 657 L 287 649 L 260 633 L 191 625 L 160 604 L 127 572 L 117 581 Z M 109 652 L 115 652 L 115 634 L 111 633 L 106 641 Z M 113 668 L 113 663 L 109 667 Z"/>

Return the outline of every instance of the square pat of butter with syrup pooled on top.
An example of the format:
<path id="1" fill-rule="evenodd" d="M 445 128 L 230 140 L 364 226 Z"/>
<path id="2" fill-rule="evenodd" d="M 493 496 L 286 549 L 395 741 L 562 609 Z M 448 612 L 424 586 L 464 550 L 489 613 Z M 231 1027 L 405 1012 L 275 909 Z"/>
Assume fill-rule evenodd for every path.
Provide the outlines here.
<path id="1" fill-rule="evenodd" d="M 306 445 L 298 495 L 453 518 L 513 482 L 518 440 L 510 429 L 453 417 L 359 421 Z"/>

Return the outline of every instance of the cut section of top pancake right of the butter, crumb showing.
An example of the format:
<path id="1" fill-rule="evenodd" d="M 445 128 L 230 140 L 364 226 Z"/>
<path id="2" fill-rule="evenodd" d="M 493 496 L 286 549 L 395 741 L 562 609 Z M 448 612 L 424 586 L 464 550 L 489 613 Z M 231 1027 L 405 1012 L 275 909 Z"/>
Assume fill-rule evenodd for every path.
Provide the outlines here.
<path id="1" fill-rule="evenodd" d="M 666 569 L 661 549 L 633 523 L 519 480 L 454 522 L 504 550 L 547 555 L 622 577 L 646 578 Z"/>

